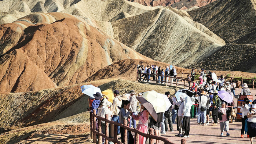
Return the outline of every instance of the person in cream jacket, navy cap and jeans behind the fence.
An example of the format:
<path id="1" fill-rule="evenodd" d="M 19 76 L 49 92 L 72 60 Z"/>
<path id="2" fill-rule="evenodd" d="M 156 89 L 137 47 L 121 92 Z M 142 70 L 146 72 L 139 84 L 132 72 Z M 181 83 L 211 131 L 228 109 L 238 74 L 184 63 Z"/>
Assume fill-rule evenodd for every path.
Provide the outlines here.
<path id="1" fill-rule="evenodd" d="M 119 123 L 119 112 L 120 109 L 118 107 L 121 107 L 122 105 L 122 99 L 119 96 L 119 91 L 114 90 L 114 100 L 113 100 L 113 106 L 112 106 L 112 121 L 116 121 Z M 120 136 L 120 126 L 117 126 L 117 135 Z"/>

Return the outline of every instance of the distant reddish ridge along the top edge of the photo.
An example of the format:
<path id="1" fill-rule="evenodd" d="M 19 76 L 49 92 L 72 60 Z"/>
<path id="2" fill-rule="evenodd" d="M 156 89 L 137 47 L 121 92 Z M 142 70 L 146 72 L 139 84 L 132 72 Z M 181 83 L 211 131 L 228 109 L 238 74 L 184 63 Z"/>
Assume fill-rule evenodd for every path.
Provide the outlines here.
<path id="1" fill-rule="evenodd" d="M 193 6 L 206 6 L 216 0 L 127 0 L 144 6 L 172 6 L 177 9 L 187 9 Z"/>

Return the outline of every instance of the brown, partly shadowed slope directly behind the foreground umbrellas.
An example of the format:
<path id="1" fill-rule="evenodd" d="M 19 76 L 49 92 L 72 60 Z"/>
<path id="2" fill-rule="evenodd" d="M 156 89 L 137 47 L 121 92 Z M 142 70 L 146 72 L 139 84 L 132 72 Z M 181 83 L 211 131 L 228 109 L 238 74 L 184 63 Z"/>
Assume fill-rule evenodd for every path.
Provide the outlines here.
<path id="1" fill-rule="evenodd" d="M 99 80 L 77 85 L 45 89 L 24 93 L 0 93 L 0 133 L 14 128 L 32 126 L 73 116 L 87 111 L 88 96 L 81 92 L 81 85 L 93 84 L 101 90 L 119 90 L 121 93 L 134 89 L 136 92 L 154 89 L 164 93 L 175 89 L 156 85 L 147 85 L 129 80 Z M 84 100 L 82 100 L 84 99 Z M 74 110 L 74 107 L 77 109 Z M 62 119 L 59 121 L 70 121 Z M 76 122 L 75 120 L 74 122 Z"/>

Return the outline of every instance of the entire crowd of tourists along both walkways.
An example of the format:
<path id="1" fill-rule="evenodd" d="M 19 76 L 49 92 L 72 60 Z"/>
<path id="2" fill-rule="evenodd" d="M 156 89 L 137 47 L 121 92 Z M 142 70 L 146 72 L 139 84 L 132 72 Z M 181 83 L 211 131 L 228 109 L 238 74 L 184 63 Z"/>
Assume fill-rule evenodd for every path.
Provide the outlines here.
<path id="1" fill-rule="evenodd" d="M 145 77 L 147 81 L 150 79 L 151 71 L 153 73 L 160 74 L 161 76 L 153 77 L 155 80 L 159 80 L 159 83 L 163 82 L 164 75 L 177 76 L 175 67 L 161 69 L 159 66 L 147 66 L 147 69 L 143 69 L 144 66 L 139 66 L 138 71 L 146 71 L 146 75 L 141 75 L 140 78 Z M 199 71 L 199 70 L 197 70 Z M 224 135 L 230 136 L 229 133 L 229 121 L 233 122 L 234 114 L 232 115 L 232 110 L 234 102 L 227 103 L 220 99 L 218 96 L 221 90 L 225 90 L 230 95 L 235 95 L 236 84 L 234 81 L 232 83 L 226 81 L 221 75 L 218 83 L 213 81 L 211 73 L 206 74 L 204 69 L 200 71 L 200 80 L 195 82 L 195 69 L 193 68 L 191 74 L 189 74 L 188 80 L 191 82 L 190 90 L 193 95 L 179 95 L 179 98 L 175 95 L 170 95 L 170 92 L 165 92 L 170 103 L 172 104 L 169 109 L 162 113 L 157 113 L 159 119 L 155 120 L 147 109 L 140 104 L 137 97 L 142 97 L 143 92 L 136 94 L 134 90 L 126 94 L 120 95 L 118 90 L 114 90 L 114 100 L 113 103 L 108 101 L 107 98 L 103 98 L 102 95 L 97 92 L 94 94 L 95 98 L 89 99 L 90 110 L 96 110 L 97 115 L 105 117 L 105 114 L 109 115 L 109 120 L 116 121 L 118 123 L 124 124 L 124 120 L 129 121 L 129 127 L 136 128 L 136 121 L 138 121 L 137 129 L 143 133 L 149 133 L 149 128 L 154 129 L 154 135 L 161 136 L 167 131 L 177 131 L 175 136 L 182 138 L 189 138 L 190 131 L 190 119 L 193 117 L 197 118 L 197 124 L 203 126 L 217 126 L 220 125 L 220 136 Z M 171 73 L 171 74 L 170 74 Z M 175 77 L 174 77 L 175 78 Z M 172 80 L 171 80 L 172 81 Z M 250 95 L 250 89 L 247 84 L 242 85 L 242 95 Z M 250 138 L 252 143 L 252 138 L 256 136 L 256 100 L 249 104 L 249 99 L 245 98 L 244 102 L 241 103 L 242 112 L 242 128 L 241 128 L 241 138 L 244 138 L 244 132 L 247 132 L 247 138 Z M 227 107 L 230 106 L 230 107 Z M 194 113 L 192 113 L 192 111 Z M 210 121 L 212 118 L 212 121 Z M 99 125 L 99 124 L 97 124 Z M 176 125 L 176 126 L 174 126 Z M 105 133 L 105 123 L 101 121 L 102 133 Z M 174 128 L 175 127 L 175 128 Z M 124 143 L 124 129 L 120 126 L 117 128 L 117 134 L 121 138 L 121 142 Z M 128 143 L 134 143 L 134 138 L 130 131 L 127 132 Z M 104 143 L 104 138 L 102 140 Z M 112 143 L 109 141 L 109 143 Z M 149 143 L 148 138 L 139 136 L 139 143 L 145 144 Z M 159 141 L 156 140 L 156 144 Z"/>

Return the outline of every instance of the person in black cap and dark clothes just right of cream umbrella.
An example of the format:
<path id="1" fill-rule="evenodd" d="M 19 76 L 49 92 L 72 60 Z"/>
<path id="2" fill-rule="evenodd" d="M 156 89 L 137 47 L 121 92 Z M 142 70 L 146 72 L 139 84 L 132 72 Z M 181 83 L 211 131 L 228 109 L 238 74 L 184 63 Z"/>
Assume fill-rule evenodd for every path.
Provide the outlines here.
<path id="1" fill-rule="evenodd" d="M 173 107 L 173 102 L 172 99 L 170 98 L 170 92 L 165 92 L 164 95 L 166 95 L 172 104 L 167 111 L 164 113 L 164 126 L 161 126 L 161 130 L 164 129 L 164 133 L 168 131 L 168 125 L 169 129 L 171 132 L 173 132 L 173 126 L 172 126 L 172 107 Z"/>

